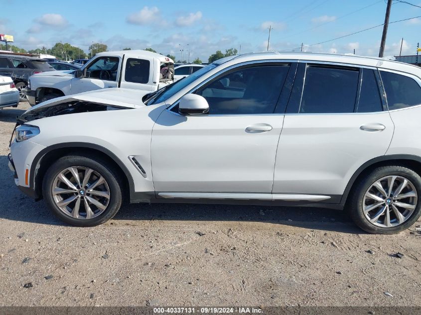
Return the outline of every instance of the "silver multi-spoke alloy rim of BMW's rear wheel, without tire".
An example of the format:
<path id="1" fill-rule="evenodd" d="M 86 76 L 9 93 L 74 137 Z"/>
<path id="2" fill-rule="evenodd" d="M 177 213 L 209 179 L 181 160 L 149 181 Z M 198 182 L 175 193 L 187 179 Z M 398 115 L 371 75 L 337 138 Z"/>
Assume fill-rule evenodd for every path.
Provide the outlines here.
<path id="1" fill-rule="evenodd" d="M 391 175 L 373 183 L 363 198 L 366 219 L 380 227 L 393 227 L 408 220 L 417 206 L 418 194 L 405 177 Z"/>

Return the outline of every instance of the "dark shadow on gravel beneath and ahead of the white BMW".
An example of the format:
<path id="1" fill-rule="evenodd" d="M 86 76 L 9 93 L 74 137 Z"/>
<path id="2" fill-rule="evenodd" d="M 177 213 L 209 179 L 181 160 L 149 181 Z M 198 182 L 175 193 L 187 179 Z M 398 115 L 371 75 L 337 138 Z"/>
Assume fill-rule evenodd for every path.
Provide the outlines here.
<path id="1" fill-rule="evenodd" d="M 34 202 L 14 185 L 7 157 L 0 156 L 0 218 L 40 224 L 67 225 L 56 219 L 44 201 Z M 345 211 L 244 205 L 132 204 L 124 205 L 114 217 L 116 223 L 136 226 L 140 220 L 249 221 L 284 224 L 309 229 L 362 233 Z M 125 222 L 130 220 L 130 222 Z M 143 222 L 144 223 L 144 222 Z"/>

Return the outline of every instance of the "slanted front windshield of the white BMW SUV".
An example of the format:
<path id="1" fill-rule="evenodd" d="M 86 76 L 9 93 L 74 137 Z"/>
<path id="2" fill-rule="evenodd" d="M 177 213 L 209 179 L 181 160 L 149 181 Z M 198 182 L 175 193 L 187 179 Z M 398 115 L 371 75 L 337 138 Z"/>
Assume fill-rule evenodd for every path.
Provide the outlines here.
<path id="1" fill-rule="evenodd" d="M 197 78 L 200 78 L 205 73 L 211 71 L 217 66 L 218 64 L 215 64 L 215 63 L 207 65 L 206 67 L 203 67 L 202 69 L 196 71 L 195 73 L 189 75 L 188 77 L 185 77 L 182 80 L 178 80 L 177 82 L 156 91 L 154 94 L 148 96 L 146 105 L 153 105 L 153 104 L 165 102 L 168 98 L 172 97 L 175 93 L 177 93 L 178 91 L 181 91 L 190 83 L 192 83 L 194 80 L 196 80 Z"/>

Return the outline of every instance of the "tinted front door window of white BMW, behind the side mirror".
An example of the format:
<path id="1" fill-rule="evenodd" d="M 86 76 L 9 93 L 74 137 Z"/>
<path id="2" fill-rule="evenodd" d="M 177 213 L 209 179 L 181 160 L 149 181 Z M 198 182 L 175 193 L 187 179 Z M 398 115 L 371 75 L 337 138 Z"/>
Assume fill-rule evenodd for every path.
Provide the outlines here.
<path id="1" fill-rule="evenodd" d="M 209 104 L 210 114 L 273 113 L 289 65 L 243 68 L 212 81 L 196 94 Z"/>

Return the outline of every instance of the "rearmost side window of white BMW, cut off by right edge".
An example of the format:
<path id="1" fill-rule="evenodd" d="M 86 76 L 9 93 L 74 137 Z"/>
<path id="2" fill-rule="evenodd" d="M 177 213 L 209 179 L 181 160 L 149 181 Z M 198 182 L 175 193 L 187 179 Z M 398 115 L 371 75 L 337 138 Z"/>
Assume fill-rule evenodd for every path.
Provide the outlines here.
<path id="1" fill-rule="evenodd" d="M 421 104 L 421 87 L 412 78 L 381 71 L 389 110 Z"/>

